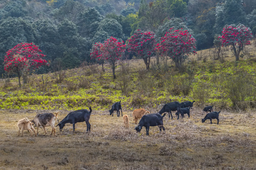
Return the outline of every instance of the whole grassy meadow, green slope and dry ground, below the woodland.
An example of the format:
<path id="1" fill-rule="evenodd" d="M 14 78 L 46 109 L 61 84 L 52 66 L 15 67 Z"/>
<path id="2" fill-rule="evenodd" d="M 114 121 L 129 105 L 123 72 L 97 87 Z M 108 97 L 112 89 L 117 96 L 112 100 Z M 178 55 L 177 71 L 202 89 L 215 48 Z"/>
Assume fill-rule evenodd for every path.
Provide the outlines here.
<path id="1" fill-rule="evenodd" d="M 254 170 L 256 169 L 256 60 L 251 47 L 239 62 L 229 51 L 214 60 L 212 51 L 191 56 L 182 73 L 171 60 L 160 65 L 152 59 L 147 71 L 142 60 L 119 61 L 117 79 L 110 65 L 60 70 L 28 76 L 18 87 L 17 78 L 0 80 L 0 169 L 2 170 Z M 234 93 L 235 92 L 235 93 Z M 113 102 L 121 100 L 121 117 L 110 116 Z M 165 132 L 143 127 L 136 133 L 132 110 L 159 111 L 172 101 L 195 100 L 191 117 L 164 118 Z M 205 105 L 221 111 L 219 125 L 201 123 Z M 18 135 L 19 119 L 59 111 L 63 119 L 71 110 L 91 106 L 91 132 L 85 123 L 76 131 L 67 124 L 56 137 Z M 175 113 L 175 112 L 174 112 Z M 174 115 L 173 113 L 173 115 Z M 55 123 L 56 124 L 56 123 Z"/>

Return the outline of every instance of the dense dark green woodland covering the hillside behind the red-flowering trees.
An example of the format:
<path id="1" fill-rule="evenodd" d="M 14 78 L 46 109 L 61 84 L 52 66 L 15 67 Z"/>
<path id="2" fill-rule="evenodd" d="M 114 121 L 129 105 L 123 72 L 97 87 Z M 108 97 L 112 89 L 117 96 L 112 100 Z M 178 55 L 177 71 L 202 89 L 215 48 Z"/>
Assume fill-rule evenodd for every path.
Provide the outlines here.
<path id="1" fill-rule="evenodd" d="M 95 42 L 110 36 L 126 42 L 137 29 L 155 33 L 157 43 L 170 27 L 185 28 L 201 50 L 213 46 L 225 25 L 239 23 L 255 35 L 255 0 L 1 0 L 0 63 L 18 43 L 33 42 L 51 66 L 38 73 L 52 71 L 56 63 L 75 68 L 95 62 Z"/>

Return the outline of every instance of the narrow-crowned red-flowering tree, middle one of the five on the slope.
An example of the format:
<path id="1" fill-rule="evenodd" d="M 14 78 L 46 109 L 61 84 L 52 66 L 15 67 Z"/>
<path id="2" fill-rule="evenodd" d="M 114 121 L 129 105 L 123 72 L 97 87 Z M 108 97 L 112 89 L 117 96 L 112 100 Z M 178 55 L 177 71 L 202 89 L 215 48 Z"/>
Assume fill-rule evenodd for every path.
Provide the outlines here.
<path id="1" fill-rule="evenodd" d="M 137 30 L 128 40 L 128 51 L 135 52 L 144 60 L 146 69 L 149 69 L 150 58 L 155 54 L 155 33 Z"/>

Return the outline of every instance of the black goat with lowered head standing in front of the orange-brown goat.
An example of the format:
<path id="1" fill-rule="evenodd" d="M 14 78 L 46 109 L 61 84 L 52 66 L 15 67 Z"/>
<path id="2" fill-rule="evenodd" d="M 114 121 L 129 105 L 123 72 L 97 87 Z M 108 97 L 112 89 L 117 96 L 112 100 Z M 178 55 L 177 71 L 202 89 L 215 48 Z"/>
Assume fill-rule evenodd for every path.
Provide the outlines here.
<path id="1" fill-rule="evenodd" d="M 142 127 L 146 127 L 146 135 L 149 135 L 148 131 L 150 126 L 158 126 L 160 132 L 162 131 L 162 129 L 165 130 L 163 123 L 163 118 L 165 117 L 165 114 L 162 116 L 159 113 L 153 113 L 142 116 L 142 118 L 139 121 L 139 124 L 137 125 L 137 127 L 135 127 L 135 130 L 137 132 L 140 132 Z"/>

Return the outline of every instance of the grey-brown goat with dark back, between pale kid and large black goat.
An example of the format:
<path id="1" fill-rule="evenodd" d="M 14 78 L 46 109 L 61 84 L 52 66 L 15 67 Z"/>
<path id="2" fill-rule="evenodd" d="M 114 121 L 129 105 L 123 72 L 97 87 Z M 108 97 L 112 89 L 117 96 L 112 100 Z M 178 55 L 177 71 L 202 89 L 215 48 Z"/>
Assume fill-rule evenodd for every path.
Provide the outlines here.
<path id="1" fill-rule="evenodd" d="M 37 134 L 38 134 L 38 128 L 39 126 L 43 127 L 44 131 L 46 132 L 46 128 L 45 127 L 52 127 L 52 133 L 54 132 L 54 136 L 56 135 L 56 131 L 55 131 L 55 119 L 57 118 L 58 113 L 55 113 L 55 115 L 53 113 L 42 113 L 42 114 L 37 114 L 36 117 L 32 120 L 32 122 L 37 126 Z M 46 132 L 47 134 L 47 132 Z"/>

